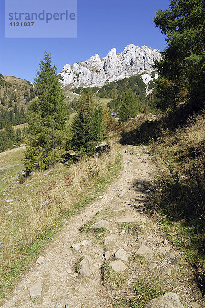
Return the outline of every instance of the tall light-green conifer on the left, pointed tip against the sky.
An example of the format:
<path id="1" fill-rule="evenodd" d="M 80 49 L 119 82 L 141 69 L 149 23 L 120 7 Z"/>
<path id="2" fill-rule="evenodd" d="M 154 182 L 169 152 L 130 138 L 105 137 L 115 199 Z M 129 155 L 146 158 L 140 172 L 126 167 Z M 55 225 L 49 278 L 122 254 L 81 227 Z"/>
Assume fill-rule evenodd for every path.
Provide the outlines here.
<path id="1" fill-rule="evenodd" d="M 37 98 L 29 106 L 29 127 L 24 164 L 29 174 L 53 167 L 63 147 L 65 126 L 65 95 L 61 89 L 56 66 L 45 52 L 40 61 L 35 87 Z"/>

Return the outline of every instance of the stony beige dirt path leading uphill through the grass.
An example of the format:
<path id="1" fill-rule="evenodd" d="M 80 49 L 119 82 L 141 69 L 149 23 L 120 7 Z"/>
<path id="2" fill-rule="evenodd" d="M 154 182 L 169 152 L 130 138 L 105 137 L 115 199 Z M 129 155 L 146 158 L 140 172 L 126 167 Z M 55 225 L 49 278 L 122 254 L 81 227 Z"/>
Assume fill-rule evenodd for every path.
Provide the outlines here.
<path id="1" fill-rule="evenodd" d="M 154 173 L 154 166 L 144 150 L 122 147 L 123 168 L 119 177 L 95 203 L 65 224 L 41 254 L 43 258 L 38 261 L 42 263 L 31 264 L 2 307 L 116 307 L 116 300 L 133 297 L 134 279 L 143 278 L 146 282 L 155 277 L 167 291 L 179 295 L 184 307 L 194 307 L 192 304 L 199 294 L 194 273 L 186 263 L 179 261 L 180 252 L 166 242 L 160 225 L 144 209 Z M 98 228 L 95 232 L 90 228 L 102 220 L 108 230 Z M 84 240 L 79 250 L 75 245 L 71 248 L 72 244 Z M 118 253 L 124 257 L 118 255 L 114 259 L 119 249 Z M 108 261 L 103 257 L 105 251 Z M 177 258 L 176 263 L 168 259 L 169 253 Z M 119 261 L 119 258 L 126 268 L 122 272 L 110 270 L 109 262 Z M 155 264 L 151 271 L 150 263 Z M 36 282 L 38 287 L 36 285 L 34 291 L 39 297 L 31 299 L 29 292 Z"/>

